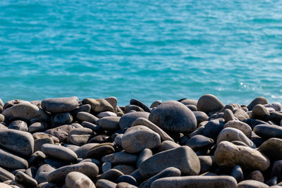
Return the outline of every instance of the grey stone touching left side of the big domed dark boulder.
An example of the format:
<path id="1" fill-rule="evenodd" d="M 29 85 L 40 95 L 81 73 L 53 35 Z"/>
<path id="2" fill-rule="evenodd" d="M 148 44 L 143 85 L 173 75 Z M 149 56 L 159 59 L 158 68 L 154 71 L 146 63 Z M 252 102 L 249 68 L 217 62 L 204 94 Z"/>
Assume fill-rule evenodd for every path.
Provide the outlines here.
<path id="1" fill-rule="evenodd" d="M 137 120 L 137 118 L 149 118 L 149 113 L 147 112 L 132 112 L 132 113 L 126 113 L 121 117 L 119 120 L 119 127 L 121 130 L 125 129 L 126 127 L 131 127 L 133 122 Z"/>

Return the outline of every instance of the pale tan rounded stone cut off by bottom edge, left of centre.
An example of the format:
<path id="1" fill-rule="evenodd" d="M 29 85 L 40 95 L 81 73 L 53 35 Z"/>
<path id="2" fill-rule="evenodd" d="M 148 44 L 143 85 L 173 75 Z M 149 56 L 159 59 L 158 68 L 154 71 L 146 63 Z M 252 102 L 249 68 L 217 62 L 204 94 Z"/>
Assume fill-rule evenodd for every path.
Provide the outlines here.
<path id="1" fill-rule="evenodd" d="M 71 172 L 66 175 L 66 187 L 68 188 L 95 188 L 94 183 L 89 177 L 82 173 Z"/>

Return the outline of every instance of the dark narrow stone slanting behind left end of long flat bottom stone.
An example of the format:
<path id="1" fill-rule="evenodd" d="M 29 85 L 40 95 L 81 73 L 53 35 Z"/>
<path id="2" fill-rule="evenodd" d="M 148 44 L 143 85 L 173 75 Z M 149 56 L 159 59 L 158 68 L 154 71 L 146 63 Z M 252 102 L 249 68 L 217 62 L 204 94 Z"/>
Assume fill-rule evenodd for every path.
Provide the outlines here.
<path id="1" fill-rule="evenodd" d="M 159 172 L 157 175 L 150 177 L 145 182 L 142 182 L 142 184 L 140 184 L 140 188 L 151 187 L 152 182 L 154 182 L 155 180 L 158 180 L 162 177 L 179 177 L 180 175 L 181 175 L 181 172 L 178 168 L 168 167 L 168 168 L 162 170 L 161 172 Z"/>

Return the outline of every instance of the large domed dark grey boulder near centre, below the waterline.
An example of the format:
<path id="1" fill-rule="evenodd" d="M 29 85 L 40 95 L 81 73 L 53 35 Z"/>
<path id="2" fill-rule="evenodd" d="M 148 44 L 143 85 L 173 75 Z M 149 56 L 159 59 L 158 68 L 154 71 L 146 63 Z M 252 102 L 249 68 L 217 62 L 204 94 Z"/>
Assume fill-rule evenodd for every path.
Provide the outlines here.
<path id="1" fill-rule="evenodd" d="M 154 109 L 149 120 L 164 131 L 189 133 L 197 128 L 197 119 L 184 104 L 166 101 Z"/>

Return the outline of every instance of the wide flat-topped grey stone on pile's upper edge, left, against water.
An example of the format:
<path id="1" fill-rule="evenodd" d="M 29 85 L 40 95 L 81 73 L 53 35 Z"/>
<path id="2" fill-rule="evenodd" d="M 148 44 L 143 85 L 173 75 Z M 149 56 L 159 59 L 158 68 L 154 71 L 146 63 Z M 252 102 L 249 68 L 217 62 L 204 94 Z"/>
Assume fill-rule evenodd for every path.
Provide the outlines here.
<path id="1" fill-rule="evenodd" d="M 53 99 L 44 99 L 41 106 L 50 113 L 66 113 L 73 111 L 78 107 L 78 97 L 61 97 Z"/>

